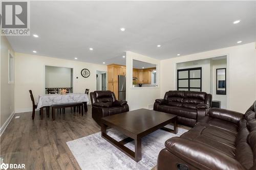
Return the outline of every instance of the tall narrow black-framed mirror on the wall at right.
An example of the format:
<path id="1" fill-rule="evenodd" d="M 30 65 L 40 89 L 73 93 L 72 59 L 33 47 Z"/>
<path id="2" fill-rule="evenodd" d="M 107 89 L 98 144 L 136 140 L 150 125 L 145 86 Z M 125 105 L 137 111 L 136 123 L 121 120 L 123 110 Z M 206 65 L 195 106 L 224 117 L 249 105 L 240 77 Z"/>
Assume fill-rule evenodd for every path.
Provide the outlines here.
<path id="1" fill-rule="evenodd" d="M 226 95 L 226 68 L 216 69 L 216 94 Z"/>

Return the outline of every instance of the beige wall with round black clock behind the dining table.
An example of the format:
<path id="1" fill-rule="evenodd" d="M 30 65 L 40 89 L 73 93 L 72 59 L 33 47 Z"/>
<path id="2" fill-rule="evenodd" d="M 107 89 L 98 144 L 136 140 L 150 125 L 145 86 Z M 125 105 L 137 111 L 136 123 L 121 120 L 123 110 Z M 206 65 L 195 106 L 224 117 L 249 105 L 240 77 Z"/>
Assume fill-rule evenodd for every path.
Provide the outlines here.
<path id="1" fill-rule="evenodd" d="M 45 65 L 73 68 L 73 91 L 81 93 L 84 93 L 86 88 L 89 88 L 90 92 L 96 90 L 96 70 L 106 71 L 107 68 L 105 65 L 15 53 L 16 112 L 32 109 L 29 96 L 30 89 L 34 94 L 35 101 L 37 101 L 39 94 L 45 93 Z M 80 72 L 83 68 L 90 70 L 89 78 L 81 76 Z"/>

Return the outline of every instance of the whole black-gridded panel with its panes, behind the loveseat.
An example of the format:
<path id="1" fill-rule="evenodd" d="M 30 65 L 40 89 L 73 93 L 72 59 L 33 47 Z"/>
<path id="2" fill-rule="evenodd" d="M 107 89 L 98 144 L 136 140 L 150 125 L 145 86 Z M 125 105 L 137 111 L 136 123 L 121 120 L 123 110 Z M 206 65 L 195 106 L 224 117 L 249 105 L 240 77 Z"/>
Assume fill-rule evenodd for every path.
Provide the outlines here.
<path id="1" fill-rule="evenodd" d="M 178 69 L 177 89 L 202 91 L 202 67 Z"/>

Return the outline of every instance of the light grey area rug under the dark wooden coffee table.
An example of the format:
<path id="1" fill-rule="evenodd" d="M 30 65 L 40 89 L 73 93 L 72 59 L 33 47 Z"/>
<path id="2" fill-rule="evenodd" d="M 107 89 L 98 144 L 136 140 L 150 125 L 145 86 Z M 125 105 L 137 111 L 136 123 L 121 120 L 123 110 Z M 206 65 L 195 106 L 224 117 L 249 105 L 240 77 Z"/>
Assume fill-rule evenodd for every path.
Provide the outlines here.
<path id="1" fill-rule="evenodd" d="M 166 126 L 173 129 L 171 125 Z M 139 162 L 122 153 L 111 143 L 100 136 L 100 132 L 68 141 L 67 144 L 76 158 L 81 169 L 151 169 L 157 164 L 159 152 L 165 148 L 164 142 L 174 136 L 180 136 L 187 132 L 186 129 L 178 128 L 178 133 L 173 134 L 163 130 L 157 130 L 142 138 L 142 158 Z M 108 129 L 107 134 L 120 141 L 127 136 L 115 129 Z M 134 141 L 125 146 L 134 151 Z"/>

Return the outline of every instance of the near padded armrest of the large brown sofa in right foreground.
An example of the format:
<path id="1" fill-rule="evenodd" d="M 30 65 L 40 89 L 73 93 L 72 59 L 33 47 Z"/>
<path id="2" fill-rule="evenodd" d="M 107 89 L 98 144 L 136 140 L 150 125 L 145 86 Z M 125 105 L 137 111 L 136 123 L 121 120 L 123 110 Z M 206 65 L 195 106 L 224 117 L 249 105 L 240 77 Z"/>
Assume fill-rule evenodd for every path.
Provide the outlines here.
<path id="1" fill-rule="evenodd" d="M 241 169 L 245 167 L 236 159 L 211 148 L 210 146 L 180 137 L 173 137 L 165 142 L 167 151 L 182 160 L 188 161 L 199 169 Z M 207 167 L 207 168 L 205 168 Z"/>

